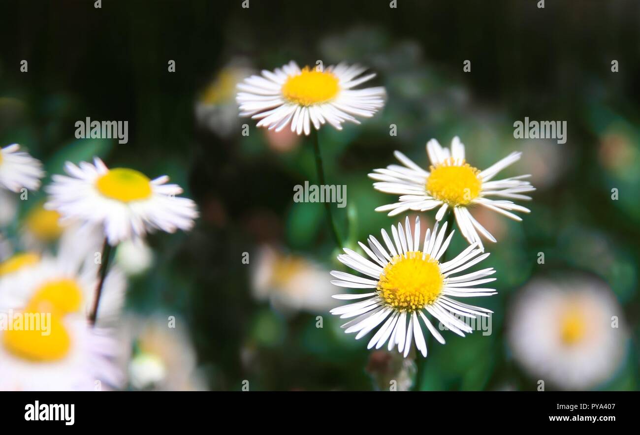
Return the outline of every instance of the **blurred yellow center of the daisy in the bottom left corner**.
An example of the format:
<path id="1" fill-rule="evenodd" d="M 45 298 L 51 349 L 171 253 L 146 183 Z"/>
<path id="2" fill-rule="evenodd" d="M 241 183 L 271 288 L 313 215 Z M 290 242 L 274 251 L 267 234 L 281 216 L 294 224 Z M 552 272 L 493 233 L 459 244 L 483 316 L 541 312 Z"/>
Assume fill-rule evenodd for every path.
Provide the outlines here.
<path id="1" fill-rule="evenodd" d="M 42 323 L 39 329 L 26 328 L 29 315 L 38 316 L 42 320 L 42 313 L 26 310 L 14 315 L 22 315 L 25 320 L 21 329 L 9 329 L 4 332 L 4 347 L 8 351 L 20 358 L 40 362 L 57 361 L 67 355 L 71 348 L 71 339 L 60 317 L 51 315 L 51 321 L 47 325 L 49 335 L 44 335 L 47 331 L 42 327 Z"/>

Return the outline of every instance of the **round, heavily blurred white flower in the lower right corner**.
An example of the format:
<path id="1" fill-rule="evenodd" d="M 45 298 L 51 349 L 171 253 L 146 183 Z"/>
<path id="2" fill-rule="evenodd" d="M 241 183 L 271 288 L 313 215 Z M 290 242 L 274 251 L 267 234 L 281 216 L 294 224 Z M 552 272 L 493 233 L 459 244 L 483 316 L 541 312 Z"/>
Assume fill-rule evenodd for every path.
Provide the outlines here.
<path id="1" fill-rule="evenodd" d="M 622 310 L 602 281 L 538 278 L 510 312 L 509 343 L 531 376 L 566 390 L 584 390 L 620 367 L 627 332 Z"/>

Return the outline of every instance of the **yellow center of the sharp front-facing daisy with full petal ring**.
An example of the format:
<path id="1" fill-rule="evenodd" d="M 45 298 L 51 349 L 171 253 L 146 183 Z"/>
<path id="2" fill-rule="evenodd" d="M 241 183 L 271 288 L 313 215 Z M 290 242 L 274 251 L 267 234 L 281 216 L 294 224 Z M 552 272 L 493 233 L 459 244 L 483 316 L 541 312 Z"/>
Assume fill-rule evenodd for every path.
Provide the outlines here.
<path id="1" fill-rule="evenodd" d="M 440 293 L 444 277 L 437 260 L 422 252 L 396 255 L 385 266 L 378 281 L 378 294 L 397 310 L 420 310 L 433 304 Z"/>

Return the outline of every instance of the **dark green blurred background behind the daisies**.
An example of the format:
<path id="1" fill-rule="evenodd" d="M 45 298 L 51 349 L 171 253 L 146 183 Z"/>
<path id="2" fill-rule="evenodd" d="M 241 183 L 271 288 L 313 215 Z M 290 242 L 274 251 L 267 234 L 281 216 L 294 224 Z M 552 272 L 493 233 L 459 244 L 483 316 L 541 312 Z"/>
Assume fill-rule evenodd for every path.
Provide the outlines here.
<path id="1" fill-rule="evenodd" d="M 478 218 L 499 240 L 487 246 L 485 266 L 497 269 L 499 294 L 478 301 L 495 312 L 492 335 L 431 340 L 423 389 L 534 390 L 509 351 L 505 315 L 532 276 L 566 270 L 606 281 L 633 333 L 620 370 L 598 388 L 640 388 L 640 3 L 241 3 L 104 0 L 97 9 L 92 1 L 2 0 L 0 8 L 0 145 L 25 146 L 49 175 L 93 155 L 150 177 L 166 173 L 198 203 L 193 232 L 150 237 L 156 262 L 131 282 L 128 306 L 188 321 L 209 388 L 239 390 L 248 379 L 252 390 L 369 390 L 376 383 L 365 367 L 385 364 L 327 309 L 273 300 L 291 287 L 291 268 L 338 267 L 322 205 L 293 202 L 293 186 L 316 180 L 310 141 L 269 137 L 237 119 L 234 77 L 291 59 L 362 63 L 387 88 L 387 105 L 371 120 L 320 132 L 328 182 L 348 186 L 348 207 L 333 211 L 352 239 L 397 223 L 374 212 L 394 198 L 367 178 L 394 163 L 393 150 L 427 165 L 428 139 L 449 145 L 458 135 L 479 168 L 524 152 L 504 175 L 532 174 L 531 214 L 522 223 Z M 129 121 L 129 143 L 75 139 L 74 123 L 87 116 Z M 566 121 L 568 140 L 514 139 L 513 122 L 525 116 Z M 433 222 L 433 213 L 424 217 Z M 263 262 L 264 246 L 280 266 Z M 463 248 L 460 237 L 454 246 Z M 260 266 L 272 274 L 262 298 Z"/>

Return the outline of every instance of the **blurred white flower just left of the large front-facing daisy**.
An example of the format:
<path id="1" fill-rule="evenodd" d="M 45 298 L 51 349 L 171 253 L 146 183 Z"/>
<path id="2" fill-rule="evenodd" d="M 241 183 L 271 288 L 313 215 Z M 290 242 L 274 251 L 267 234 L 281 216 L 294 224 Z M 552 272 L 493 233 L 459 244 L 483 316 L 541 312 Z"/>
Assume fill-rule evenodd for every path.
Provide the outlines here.
<path id="1" fill-rule="evenodd" d="M 268 299 L 283 312 L 316 313 L 332 306 L 333 287 L 321 265 L 268 245 L 260 248 L 255 264 L 252 287 L 256 299 Z"/>

